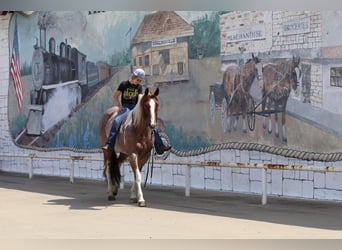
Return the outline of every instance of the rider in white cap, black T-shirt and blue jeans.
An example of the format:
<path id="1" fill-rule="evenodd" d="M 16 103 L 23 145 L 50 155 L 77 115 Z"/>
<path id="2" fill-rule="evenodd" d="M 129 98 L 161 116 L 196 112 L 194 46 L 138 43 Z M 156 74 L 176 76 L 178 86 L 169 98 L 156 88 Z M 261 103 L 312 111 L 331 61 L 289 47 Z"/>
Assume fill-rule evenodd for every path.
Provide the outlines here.
<path id="1" fill-rule="evenodd" d="M 143 69 L 136 69 L 134 70 L 131 79 L 121 82 L 117 90 L 114 92 L 114 105 L 119 108 L 119 113 L 113 120 L 113 125 L 110 130 L 107 143 L 102 147 L 103 150 L 107 151 L 114 149 L 116 133 L 119 129 L 121 121 L 127 115 L 127 113 L 135 107 L 138 102 L 138 97 L 142 96 L 143 91 L 140 83 L 144 80 L 144 78 L 145 71 Z M 121 102 L 119 101 L 120 95 Z M 154 138 L 154 147 L 157 154 L 163 154 L 165 151 L 171 149 L 171 146 L 164 145 L 157 128 L 154 128 Z"/>

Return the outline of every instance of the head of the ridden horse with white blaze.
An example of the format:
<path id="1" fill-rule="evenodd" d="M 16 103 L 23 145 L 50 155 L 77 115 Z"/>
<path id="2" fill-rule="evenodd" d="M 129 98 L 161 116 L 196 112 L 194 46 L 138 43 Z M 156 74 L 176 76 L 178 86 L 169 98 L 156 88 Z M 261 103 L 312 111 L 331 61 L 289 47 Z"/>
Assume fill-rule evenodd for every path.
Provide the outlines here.
<path id="1" fill-rule="evenodd" d="M 141 99 L 141 105 L 143 109 L 143 116 L 148 122 L 150 128 L 157 126 L 158 120 L 158 94 L 159 88 L 157 88 L 154 93 L 151 93 L 148 88 L 146 88 L 144 96 Z"/>

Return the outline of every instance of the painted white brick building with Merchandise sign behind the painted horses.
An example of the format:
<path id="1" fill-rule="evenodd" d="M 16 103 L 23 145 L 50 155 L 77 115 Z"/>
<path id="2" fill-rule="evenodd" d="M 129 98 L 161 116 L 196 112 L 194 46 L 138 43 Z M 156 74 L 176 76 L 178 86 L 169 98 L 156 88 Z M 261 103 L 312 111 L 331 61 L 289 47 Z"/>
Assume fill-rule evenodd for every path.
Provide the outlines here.
<path id="1" fill-rule="evenodd" d="M 291 97 L 342 115 L 341 11 L 234 11 L 221 16 L 222 63 L 253 52 L 263 63 L 300 57 Z M 243 48 L 241 53 L 239 48 Z"/>

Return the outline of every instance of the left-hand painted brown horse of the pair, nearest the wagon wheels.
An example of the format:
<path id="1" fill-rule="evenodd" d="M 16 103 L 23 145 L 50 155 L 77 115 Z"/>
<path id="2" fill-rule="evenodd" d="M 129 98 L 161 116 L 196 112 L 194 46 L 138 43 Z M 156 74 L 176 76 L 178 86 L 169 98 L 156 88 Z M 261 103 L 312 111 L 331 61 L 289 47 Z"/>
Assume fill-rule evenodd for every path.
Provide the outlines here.
<path id="1" fill-rule="evenodd" d="M 251 98 L 250 89 L 255 77 L 261 79 L 262 65 L 258 57 L 252 54 L 245 64 L 230 64 L 223 74 L 223 89 L 225 91 L 225 104 L 222 112 L 227 112 L 223 117 L 227 117 L 227 127 L 225 132 L 231 132 L 231 117 L 234 116 L 234 129 L 237 127 L 239 115 L 242 114 L 242 131 L 247 132 L 246 115 L 248 100 Z M 223 106 L 225 106 L 225 104 Z M 226 108 L 226 110 L 224 110 Z"/>

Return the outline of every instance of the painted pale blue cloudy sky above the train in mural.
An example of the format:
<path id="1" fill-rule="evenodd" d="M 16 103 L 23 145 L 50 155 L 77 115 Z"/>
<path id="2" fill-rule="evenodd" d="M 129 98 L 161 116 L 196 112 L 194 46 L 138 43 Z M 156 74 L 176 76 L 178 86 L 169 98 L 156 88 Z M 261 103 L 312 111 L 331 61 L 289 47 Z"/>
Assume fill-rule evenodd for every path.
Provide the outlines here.
<path id="1" fill-rule="evenodd" d="M 39 15 L 35 12 L 26 17 L 17 15 L 20 39 L 21 62 L 30 63 L 33 46 L 39 38 Z M 88 11 L 49 11 L 47 41 L 51 36 L 56 44 L 67 40 L 72 47 L 78 48 L 88 56 L 89 61 L 107 60 L 108 55 L 129 47 L 147 11 L 106 11 L 88 14 Z M 211 11 L 179 11 L 188 23 L 210 14 Z M 70 25 L 72 23 L 72 25 Z M 132 27 L 132 32 L 129 29 Z M 14 19 L 11 20 L 10 41 L 13 39 Z M 12 47 L 12 45 L 10 45 Z"/>

